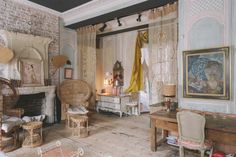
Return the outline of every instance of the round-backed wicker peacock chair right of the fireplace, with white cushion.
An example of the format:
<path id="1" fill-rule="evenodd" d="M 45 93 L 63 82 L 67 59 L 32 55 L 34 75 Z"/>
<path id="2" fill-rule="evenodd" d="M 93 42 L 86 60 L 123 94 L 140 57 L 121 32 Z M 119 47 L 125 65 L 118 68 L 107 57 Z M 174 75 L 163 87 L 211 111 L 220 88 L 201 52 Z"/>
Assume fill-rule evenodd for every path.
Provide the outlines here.
<path id="1" fill-rule="evenodd" d="M 82 80 L 65 80 L 60 85 L 59 96 L 63 104 L 66 104 L 67 126 L 71 127 L 71 116 L 86 115 L 87 113 L 77 112 L 77 107 L 89 106 L 89 98 L 92 90 L 89 84 Z M 76 110 L 73 112 L 73 110 Z"/>

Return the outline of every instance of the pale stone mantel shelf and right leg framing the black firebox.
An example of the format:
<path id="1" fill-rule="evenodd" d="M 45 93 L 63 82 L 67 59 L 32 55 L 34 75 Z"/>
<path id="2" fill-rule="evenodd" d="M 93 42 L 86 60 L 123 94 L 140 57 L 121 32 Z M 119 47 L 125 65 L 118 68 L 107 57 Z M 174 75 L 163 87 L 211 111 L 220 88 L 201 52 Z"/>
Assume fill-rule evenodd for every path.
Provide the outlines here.
<path id="1" fill-rule="evenodd" d="M 45 104 L 43 104 L 42 114 L 47 116 L 47 123 L 54 123 L 54 99 L 56 86 L 19 87 L 19 95 L 36 94 L 45 92 Z"/>

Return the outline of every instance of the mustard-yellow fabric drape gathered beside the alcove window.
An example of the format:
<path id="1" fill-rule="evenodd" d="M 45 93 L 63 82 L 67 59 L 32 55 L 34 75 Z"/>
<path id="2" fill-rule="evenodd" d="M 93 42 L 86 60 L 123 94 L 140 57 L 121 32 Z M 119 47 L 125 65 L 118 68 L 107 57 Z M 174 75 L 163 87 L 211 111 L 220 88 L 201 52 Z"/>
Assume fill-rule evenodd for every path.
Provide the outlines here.
<path id="1" fill-rule="evenodd" d="M 141 48 L 143 46 L 143 42 L 148 42 L 147 31 L 145 31 L 144 33 L 138 33 L 135 45 L 135 56 L 132 76 L 130 80 L 130 85 L 125 92 L 138 92 L 139 90 L 143 89 L 143 68 L 141 64 Z"/>

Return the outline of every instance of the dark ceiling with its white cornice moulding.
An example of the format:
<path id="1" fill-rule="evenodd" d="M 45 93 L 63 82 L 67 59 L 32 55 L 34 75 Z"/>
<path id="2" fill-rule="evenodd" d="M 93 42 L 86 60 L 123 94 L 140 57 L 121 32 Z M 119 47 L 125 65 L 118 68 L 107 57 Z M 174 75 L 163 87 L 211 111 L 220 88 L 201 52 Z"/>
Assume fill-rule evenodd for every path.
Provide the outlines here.
<path id="1" fill-rule="evenodd" d="M 65 26 L 77 29 L 160 7 L 177 0 L 21 0 L 62 17 Z"/>

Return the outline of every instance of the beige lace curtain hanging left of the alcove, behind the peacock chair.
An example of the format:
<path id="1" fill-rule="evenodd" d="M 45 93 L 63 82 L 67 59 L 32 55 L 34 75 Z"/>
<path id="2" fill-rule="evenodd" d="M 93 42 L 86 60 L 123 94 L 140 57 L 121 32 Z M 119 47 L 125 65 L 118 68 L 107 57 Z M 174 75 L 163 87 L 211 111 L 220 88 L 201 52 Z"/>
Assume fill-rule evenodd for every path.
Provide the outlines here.
<path id="1" fill-rule="evenodd" d="M 96 27 L 79 28 L 78 35 L 78 78 L 86 81 L 92 88 L 91 105 L 95 104 L 96 82 Z"/>

